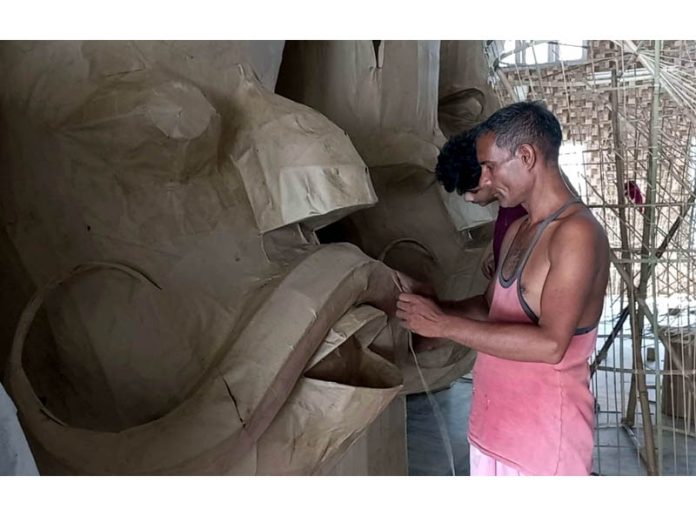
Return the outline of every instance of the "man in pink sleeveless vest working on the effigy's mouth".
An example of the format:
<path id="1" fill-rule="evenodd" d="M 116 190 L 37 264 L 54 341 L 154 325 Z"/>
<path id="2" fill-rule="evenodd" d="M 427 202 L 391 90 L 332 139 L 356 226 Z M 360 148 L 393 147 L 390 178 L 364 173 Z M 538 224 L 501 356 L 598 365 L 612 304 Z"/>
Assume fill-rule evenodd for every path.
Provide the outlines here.
<path id="1" fill-rule="evenodd" d="M 595 347 L 609 274 L 606 235 L 563 181 L 558 120 L 543 105 L 500 109 L 477 132 L 481 184 L 528 215 L 503 240 L 488 290 L 447 308 L 399 296 L 409 330 L 478 351 L 471 474 L 587 475 Z"/>

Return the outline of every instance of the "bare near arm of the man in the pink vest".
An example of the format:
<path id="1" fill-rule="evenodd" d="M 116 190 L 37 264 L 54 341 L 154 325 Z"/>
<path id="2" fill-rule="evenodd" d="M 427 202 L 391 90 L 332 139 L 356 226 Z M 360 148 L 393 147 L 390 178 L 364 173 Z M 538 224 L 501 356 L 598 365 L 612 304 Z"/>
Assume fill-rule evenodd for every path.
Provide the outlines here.
<path id="1" fill-rule="evenodd" d="M 412 295 L 399 297 L 397 316 L 420 335 L 449 338 L 509 360 L 555 364 L 563 358 L 587 305 L 599 252 L 596 229 L 588 220 L 573 218 L 556 230 L 549 244 L 551 265 L 538 325 L 475 321 Z"/>

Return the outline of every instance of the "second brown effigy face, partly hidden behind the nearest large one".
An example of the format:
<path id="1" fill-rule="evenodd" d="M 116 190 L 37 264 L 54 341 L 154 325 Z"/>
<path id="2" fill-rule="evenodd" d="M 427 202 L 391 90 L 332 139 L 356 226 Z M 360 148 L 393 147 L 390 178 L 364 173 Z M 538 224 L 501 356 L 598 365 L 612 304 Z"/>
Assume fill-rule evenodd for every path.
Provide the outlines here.
<path id="1" fill-rule="evenodd" d="M 370 167 L 379 202 L 346 217 L 336 233 L 430 282 L 441 299 L 463 299 L 485 290 L 481 266 L 496 209 L 466 203 L 436 182 L 446 141 L 438 123 L 441 63 L 437 41 L 289 42 L 277 91 L 344 128 Z M 431 387 L 471 369 L 468 349 L 450 341 L 421 347 L 419 340 L 418 362 Z M 413 358 L 402 358 L 406 391 L 421 391 Z"/>

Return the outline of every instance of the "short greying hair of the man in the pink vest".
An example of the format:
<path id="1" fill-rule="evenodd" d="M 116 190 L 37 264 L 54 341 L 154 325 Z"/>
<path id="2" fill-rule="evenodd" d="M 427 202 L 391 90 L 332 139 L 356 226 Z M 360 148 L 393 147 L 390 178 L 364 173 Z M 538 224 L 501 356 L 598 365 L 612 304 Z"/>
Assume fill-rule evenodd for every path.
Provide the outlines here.
<path id="1" fill-rule="evenodd" d="M 529 144 L 541 150 L 547 162 L 558 161 L 561 124 L 542 102 L 516 102 L 499 109 L 479 126 L 478 137 L 488 132 L 495 134 L 495 144 L 510 154 Z"/>

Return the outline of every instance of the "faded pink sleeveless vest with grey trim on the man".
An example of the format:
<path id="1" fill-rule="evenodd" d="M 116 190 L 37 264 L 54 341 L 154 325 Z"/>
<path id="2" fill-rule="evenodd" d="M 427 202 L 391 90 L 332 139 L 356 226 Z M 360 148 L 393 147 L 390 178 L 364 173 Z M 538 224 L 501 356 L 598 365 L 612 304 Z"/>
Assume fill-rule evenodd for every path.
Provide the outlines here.
<path id="1" fill-rule="evenodd" d="M 512 278 L 502 266 L 489 310 L 492 322 L 536 324 L 519 289 L 520 276 L 543 230 L 568 206 L 543 221 Z M 479 353 L 473 371 L 469 441 L 528 475 L 589 475 L 594 397 L 588 359 L 597 328 L 575 332 L 558 364 L 517 362 Z"/>

